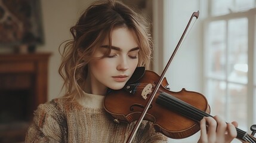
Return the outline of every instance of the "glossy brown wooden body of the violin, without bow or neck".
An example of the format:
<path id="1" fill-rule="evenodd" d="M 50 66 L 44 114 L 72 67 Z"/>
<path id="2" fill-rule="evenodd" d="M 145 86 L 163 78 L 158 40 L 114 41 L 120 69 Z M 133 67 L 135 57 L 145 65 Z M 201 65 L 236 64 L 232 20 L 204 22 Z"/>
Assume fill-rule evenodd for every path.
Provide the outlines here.
<path id="1" fill-rule="evenodd" d="M 138 120 L 149 100 L 152 88 L 158 80 L 158 74 L 153 71 L 145 71 L 137 83 L 125 85 L 121 90 L 110 91 L 105 98 L 105 110 L 116 121 L 131 123 Z M 192 106 L 196 111 L 209 113 L 210 108 L 206 98 L 198 92 L 186 91 L 186 89 L 179 92 L 169 91 L 166 86 L 168 86 L 168 82 L 164 79 L 144 116 L 144 120 L 153 122 L 156 132 L 161 132 L 169 138 L 181 139 L 195 134 L 200 130 L 199 121 L 202 117 L 196 119 L 196 117 L 193 117 L 195 115 L 187 116 L 187 114 L 190 114 L 187 105 Z M 172 101 L 165 105 L 165 102 L 160 100 L 161 98 L 164 98 L 163 101 L 173 99 L 176 102 L 178 100 L 175 103 L 178 106 L 180 106 L 180 102 L 182 102 L 181 104 L 184 102 L 186 105 L 175 107 L 176 105 L 172 105 Z"/>

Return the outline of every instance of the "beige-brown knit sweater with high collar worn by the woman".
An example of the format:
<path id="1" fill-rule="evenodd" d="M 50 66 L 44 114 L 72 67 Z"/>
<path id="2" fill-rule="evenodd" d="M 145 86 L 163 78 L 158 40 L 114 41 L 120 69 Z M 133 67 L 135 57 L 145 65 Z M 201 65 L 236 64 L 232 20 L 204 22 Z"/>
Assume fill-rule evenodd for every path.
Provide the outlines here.
<path id="1" fill-rule="evenodd" d="M 135 123 L 115 123 L 103 108 L 104 97 L 85 94 L 78 102 L 57 98 L 39 105 L 25 142 L 125 142 Z M 166 142 L 143 121 L 133 142 Z"/>

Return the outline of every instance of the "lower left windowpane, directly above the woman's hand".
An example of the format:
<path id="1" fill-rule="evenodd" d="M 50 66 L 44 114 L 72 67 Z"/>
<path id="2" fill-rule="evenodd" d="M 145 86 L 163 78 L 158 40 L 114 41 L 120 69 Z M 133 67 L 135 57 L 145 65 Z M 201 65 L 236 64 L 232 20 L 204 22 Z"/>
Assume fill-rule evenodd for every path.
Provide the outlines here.
<path id="1" fill-rule="evenodd" d="M 208 103 L 211 108 L 211 114 L 226 117 L 226 82 L 218 80 L 208 80 L 208 92 L 206 93 Z"/>

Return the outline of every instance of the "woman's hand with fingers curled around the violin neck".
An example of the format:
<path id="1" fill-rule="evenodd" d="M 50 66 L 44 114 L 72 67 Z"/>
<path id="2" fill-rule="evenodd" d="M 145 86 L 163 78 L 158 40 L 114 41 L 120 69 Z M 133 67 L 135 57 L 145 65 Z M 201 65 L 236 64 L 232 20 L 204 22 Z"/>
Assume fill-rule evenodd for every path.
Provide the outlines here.
<path id="1" fill-rule="evenodd" d="M 237 126 L 237 122 L 226 123 L 219 116 L 204 117 L 200 122 L 201 136 L 198 143 L 231 142 L 237 136 Z"/>

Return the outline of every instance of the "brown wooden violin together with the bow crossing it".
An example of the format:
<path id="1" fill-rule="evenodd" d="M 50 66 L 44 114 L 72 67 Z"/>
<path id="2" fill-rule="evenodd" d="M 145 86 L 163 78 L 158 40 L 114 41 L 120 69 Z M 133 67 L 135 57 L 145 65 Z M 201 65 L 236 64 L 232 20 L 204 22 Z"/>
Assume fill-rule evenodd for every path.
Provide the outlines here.
<path id="1" fill-rule="evenodd" d="M 169 138 L 181 139 L 198 132 L 199 122 L 203 117 L 212 117 L 209 114 L 208 101 L 202 94 L 186 89 L 179 92 L 170 91 L 164 77 L 193 17 L 198 18 L 199 11 L 194 12 L 190 17 L 161 76 L 153 71 L 145 70 L 144 67 L 137 67 L 124 88 L 110 89 L 107 92 L 104 108 L 116 123 L 131 123 L 137 120 L 127 142 L 132 141 L 142 120 L 153 122 L 156 132 L 161 132 Z M 255 125 L 252 128 L 254 128 L 254 134 Z M 240 141 L 256 143 L 253 135 L 238 128 L 236 131 L 238 133 L 236 138 Z"/>

